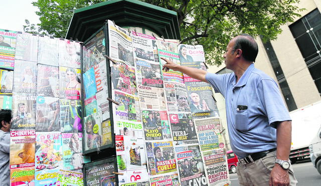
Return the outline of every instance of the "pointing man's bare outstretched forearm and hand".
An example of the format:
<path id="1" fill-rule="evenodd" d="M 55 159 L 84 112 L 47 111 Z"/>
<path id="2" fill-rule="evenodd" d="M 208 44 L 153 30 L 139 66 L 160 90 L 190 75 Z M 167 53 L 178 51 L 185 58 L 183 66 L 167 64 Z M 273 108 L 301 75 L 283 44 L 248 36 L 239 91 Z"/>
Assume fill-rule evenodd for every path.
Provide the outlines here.
<path id="1" fill-rule="evenodd" d="M 172 61 L 167 60 L 166 58 L 163 58 L 163 57 L 161 57 L 161 59 L 166 61 L 166 64 L 163 65 L 163 70 L 169 71 L 169 69 L 172 69 L 174 71 L 180 71 L 180 72 L 182 72 L 192 78 L 195 78 L 200 81 L 204 81 L 204 82 L 208 83 L 205 79 L 205 76 L 207 74 L 207 72 L 205 70 L 177 65 L 177 64 L 173 63 Z"/>

